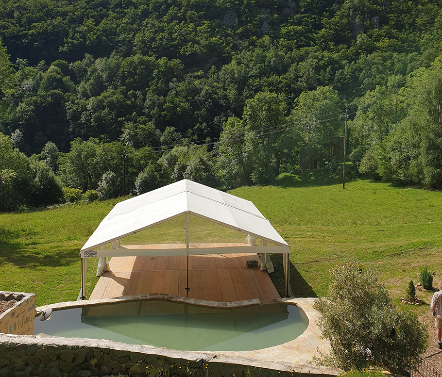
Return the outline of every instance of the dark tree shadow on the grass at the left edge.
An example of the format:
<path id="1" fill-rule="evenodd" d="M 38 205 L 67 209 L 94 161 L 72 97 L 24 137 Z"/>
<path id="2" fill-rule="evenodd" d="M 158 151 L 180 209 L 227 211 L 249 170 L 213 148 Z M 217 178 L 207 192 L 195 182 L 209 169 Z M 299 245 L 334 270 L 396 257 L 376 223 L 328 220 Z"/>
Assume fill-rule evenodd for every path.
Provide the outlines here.
<path id="1" fill-rule="evenodd" d="M 23 246 L 19 232 L 0 229 L 0 263 L 12 263 L 19 268 L 68 266 L 79 262 L 79 248 L 74 245 L 42 246 L 29 243 Z M 44 251 L 43 251 L 44 250 Z"/>

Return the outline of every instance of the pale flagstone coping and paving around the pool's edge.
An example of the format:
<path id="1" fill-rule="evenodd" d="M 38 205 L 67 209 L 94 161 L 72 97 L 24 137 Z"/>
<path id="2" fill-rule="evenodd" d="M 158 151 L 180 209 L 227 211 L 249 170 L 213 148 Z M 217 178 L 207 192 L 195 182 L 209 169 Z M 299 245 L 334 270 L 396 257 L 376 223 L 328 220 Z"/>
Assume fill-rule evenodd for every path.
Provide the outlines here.
<path id="1" fill-rule="evenodd" d="M 117 298 L 103 298 L 98 300 L 60 302 L 56 304 L 41 306 L 39 308 L 36 308 L 36 310 L 44 310 L 47 308 L 51 308 L 53 311 L 57 311 L 68 308 L 80 308 L 91 305 L 102 305 L 114 302 L 137 301 L 137 300 L 166 300 L 166 301 L 182 302 L 191 305 L 199 305 L 211 308 L 239 308 L 239 307 L 261 304 L 261 300 L 259 299 L 250 299 L 250 300 L 233 301 L 233 302 L 216 302 L 216 301 L 200 300 L 195 298 L 186 298 L 177 295 L 142 294 L 135 296 L 121 296 Z M 296 305 L 306 313 L 306 316 L 308 318 L 309 324 L 306 330 L 299 337 L 287 343 L 279 344 L 269 348 L 258 349 L 254 351 L 219 351 L 219 352 L 191 351 L 191 352 L 192 354 L 200 353 L 201 355 L 212 355 L 212 356 L 216 355 L 217 358 L 223 355 L 227 359 L 233 358 L 233 359 L 249 360 L 261 363 L 282 362 L 284 364 L 289 364 L 291 366 L 296 365 L 295 369 L 297 370 L 299 370 L 301 367 L 301 370 L 303 371 L 305 371 L 306 369 L 310 370 L 312 368 L 316 369 L 318 367 L 313 367 L 311 365 L 308 365 L 308 363 L 313 359 L 314 356 L 318 356 L 319 353 L 323 354 L 328 353 L 331 347 L 328 341 L 321 338 L 321 330 L 317 324 L 319 312 L 313 308 L 315 300 L 317 300 L 317 298 L 299 297 L 299 298 L 282 298 L 280 300 L 272 301 L 273 303 L 288 303 Z M 267 303 L 263 305 L 266 304 Z M 66 338 L 66 339 L 75 339 L 75 338 Z M 87 341 L 89 340 L 84 339 L 84 341 L 87 343 Z M 91 343 L 97 342 L 96 340 L 90 340 L 90 341 Z M 112 342 L 112 341 L 107 341 L 107 342 L 118 344 L 118 342 Z M 148 349 L 150 350 L 164 349 L 148 345 L 142 347 L 148 347 Z M 187 351 L 174 351 L 174 352 L 187 352 Z M 305 367 L 302 367 L 302 365 L 304 365 Z M 327 369 L 327 372 L 325 374 L 330 374 L 329 368 L 325 369 Z M 338 371 L 336 371 L 336 375 L 339 375 Z"/>

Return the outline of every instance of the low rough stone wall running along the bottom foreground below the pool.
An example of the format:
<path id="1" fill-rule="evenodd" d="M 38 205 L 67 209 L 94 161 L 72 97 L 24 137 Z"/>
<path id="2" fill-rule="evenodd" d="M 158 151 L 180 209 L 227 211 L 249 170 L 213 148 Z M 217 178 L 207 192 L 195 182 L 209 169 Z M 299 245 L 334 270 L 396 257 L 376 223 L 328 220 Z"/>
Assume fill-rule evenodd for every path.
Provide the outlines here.
<path id="1" fill-rule="evenodd" d="M 111 341 L 0 334 L 0 377 L 331 377 L 333 369 Z"/>

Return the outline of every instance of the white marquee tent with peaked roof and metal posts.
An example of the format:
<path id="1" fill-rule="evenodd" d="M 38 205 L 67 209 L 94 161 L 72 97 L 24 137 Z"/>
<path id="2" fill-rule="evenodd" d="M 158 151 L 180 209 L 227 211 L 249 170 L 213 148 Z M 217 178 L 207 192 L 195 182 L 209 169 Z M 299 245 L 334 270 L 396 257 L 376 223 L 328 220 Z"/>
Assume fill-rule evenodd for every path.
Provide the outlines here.
<path id="1" fill-rule="evenodd" d="M 201 217 L 222 226 L 247 234 L 250 248 L 242 246 L 192 247 L 189 244 L 189 215 Z M 154 227 L 173 218 L 186 215 L 185 245 L 121 246 L 120 240 L 139 231 Z M 261 239 L 262 246 L 254 246 L 251 239 Z M 112 248 L 106 248 L 112 243 Z M 272 245 L 268 245 L 271 243 Z M 225 245 L 225 244 L 224 244 Z M 245 251 L 246 250 L 246 251 Z M 107 267 L 107 257 L 114 256 L 171 256 L 227 253 L 260 253 L 261 269 L 265 268 L 268 253 L 283 254 L 285 295 L 289 295 L 289 245 L 249 201 L 191 180 L 180 180 L 146 194 L 124 200 L 111 210 L 89 237 L 80 251 L 82 259 L 82 291 L 85 299 L 86 260 L 100 257 L 99 267 Z M 187 287 L 188 288 L 188 287 Z"/>

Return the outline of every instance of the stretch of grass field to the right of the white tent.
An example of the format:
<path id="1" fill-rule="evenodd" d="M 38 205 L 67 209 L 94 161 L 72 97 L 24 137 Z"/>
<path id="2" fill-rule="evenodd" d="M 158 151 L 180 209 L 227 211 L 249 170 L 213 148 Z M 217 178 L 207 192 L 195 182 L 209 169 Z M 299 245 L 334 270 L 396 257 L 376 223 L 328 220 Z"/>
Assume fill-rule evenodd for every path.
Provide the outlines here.
<path id="1" fill-rule="evenodd" d="M 396 302 L 409 280 L 419 281 L 423 265 L 439 273 L 441 192 L 366 180 L 347 183 L 345 190 L 341 184 L 284 186 L 243 187 L 232 193 L 252 200 L 289 243 L 295 295 L 326 294 L 329 269 L 350 259 L 381 271 Z M 282 275 L 273 280 L 278 285 Z M 440 280 L 436 276 L 433 285 Z M 431 295 L 418 292 L 427 303 Z"/>

